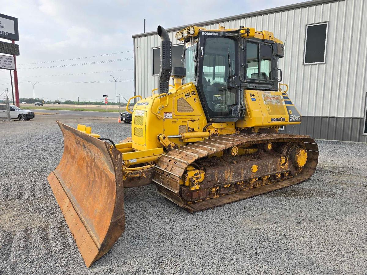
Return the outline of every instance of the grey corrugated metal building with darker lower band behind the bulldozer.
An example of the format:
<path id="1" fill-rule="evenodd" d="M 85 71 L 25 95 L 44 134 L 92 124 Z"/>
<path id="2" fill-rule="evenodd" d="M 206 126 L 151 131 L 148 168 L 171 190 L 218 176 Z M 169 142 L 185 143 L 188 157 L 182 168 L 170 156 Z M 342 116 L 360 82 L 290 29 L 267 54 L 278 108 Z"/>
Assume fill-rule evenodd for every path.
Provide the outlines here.
<path id="1" fill-rule="evenodd" d="M 366 14 L 366 0 L 315 0 L 173 27 L 167 29 L 174 45 L 172 63 L 182 66 L 183 45 L 174 34 L 189 25 L 218 29 L 221 23 L 273 32 L 285 41 L 279 63 L 282 82 L 289 85 L 288 95 L 302 114 L 301 124 L 285 131 L 367 142 Z M 160 38 L 156 32 L 132 37 L 135 95 L 144 98 L 157 88 Z"/>

